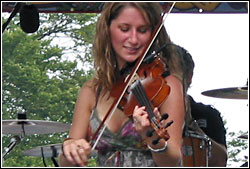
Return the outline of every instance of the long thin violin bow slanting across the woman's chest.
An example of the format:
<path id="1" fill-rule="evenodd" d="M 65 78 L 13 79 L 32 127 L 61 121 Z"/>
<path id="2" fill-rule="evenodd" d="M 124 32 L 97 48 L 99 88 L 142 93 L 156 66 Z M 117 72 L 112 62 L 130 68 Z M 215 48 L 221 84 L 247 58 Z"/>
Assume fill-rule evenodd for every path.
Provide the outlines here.
<path id="1" fill-rule="evenodd" d="M 125 87 L 124 87 L 124 89 L 123 89 L 123 91 L 122 91 L 120 97 L 118 97 L 118 98 L 116 97 L 116 98 L 115 98 L 115 100 L 113 101 L 113 104 L 110 106 L 108 112 L 106 113 L 105 117 L 103 118 L 103 120 L 102 120 L 101 124 L 99 125 L 98 129 L 96 130 L 96 132 L 94 133 L 93 137 L 91 138 L 91 141 L 95 140 L 95 138 L 97 137 L 97 134 L 99 133 L 101 127 L 104 125 L 103 128 L 102 128 L 102 130 L 101 130 L 101 132 L 100 132 L 100 134 L 98 135 L 98 137 L 97 137 L 97 139 L 96 139 L 94 145 L 92 146 L 91 151 L 93 151 L 93 150 L 95 149 L 97 143 L 99 142 L 100 138 L 102 137 L 103 132 L 104 132 L 104 130 L 105 130 L 106 127 L 107 127 L 107 125 L 104 124 L 105 121 L 107 120 L 107 121 L 106 121 L 107 123 L 110 121 L 110 119 L 111 119 L 112 115 L 114 114 L 116 108 L 118 107 L 118 105 L 119 105 L 121 99 L 123 98 L 123 96 L 124 96 L 126 90 L 128 89 L 128 86 L 129 86 L 129 85 L 132 83 L 132 81 L 133 81 L 133 78 L 132 78 L 132 77 L 135 76 L 135 73 L 136 73 L 137 70 L 139 69 L 139 67 L 140 67 L 140 65 L 141 65 L 141 63 L 142 63 L 142 61 L 143 61 L 143 59 L 145 58 L 145 56 L 146 56 L 146 54 L 148 53 L 149 49 L 151 48 L 151 46 L 152 46 L 154 40 L 155 40 L 156 37 L 158 36 L 158 34 L 159 34 L 159 32 L 160 32 L 162 26 L 164 25 L 164 22 L 165 22 L 165 20 L 167 19 L 167 16 L 170 14 L 170 12 L 172 11 L 172 9 L 174 8 L 175 3 L 176 3 L 176 2 L 173 2 L 173 4 L 172 4 L 172 6 L 170 7 L 170 9 L 169 9 L 169 11 L 168 11 L 168 13 L 167 13 L 166 16 L 165 16 L 166 12 L 165 12 L 165 11 L 163 12 L 163 15 L 161 16 L 161 19 L 160 19 L 159 23 L 157 24 L 157 27 L 156 27 L 156 29 L 154 30 L 154 32 L 153 32 L 153 34 L 152 34 L 152 36 L 151 36 L 151 39 L 149 40 L 148 44 L 145 46 L 144 51 L 142 52 L 143 54 L 139 57 L 138 61 L 136 62 L 135 66 L 133 67 L 133 69 L 132 69 L 131 73 L 129 74 L 128 78 L 126 78 L 125 83 L 124 83 L 124 84 L 125 84 Z"/>

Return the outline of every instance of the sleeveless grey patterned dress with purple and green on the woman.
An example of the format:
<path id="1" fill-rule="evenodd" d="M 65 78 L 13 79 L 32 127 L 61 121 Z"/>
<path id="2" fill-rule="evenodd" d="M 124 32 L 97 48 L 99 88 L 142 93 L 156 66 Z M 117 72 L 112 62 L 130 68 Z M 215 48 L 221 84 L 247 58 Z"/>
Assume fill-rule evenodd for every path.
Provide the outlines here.
<path id="1" fill-rule="evenodd" d="M 100 123 L 94 109 L 90 118 L 90 137 Z M 99 167 L 156 167 L 150 150 L 141 140 L 132 120 L 127 121 L 118 133 L 106 128 L 95 150 Z"/>

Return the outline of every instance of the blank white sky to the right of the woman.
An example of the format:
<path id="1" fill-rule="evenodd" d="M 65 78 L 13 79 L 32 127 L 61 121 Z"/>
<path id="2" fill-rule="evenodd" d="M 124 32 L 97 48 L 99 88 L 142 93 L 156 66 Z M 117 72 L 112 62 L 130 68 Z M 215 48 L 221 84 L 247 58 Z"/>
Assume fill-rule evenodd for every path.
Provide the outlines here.
<path id="1" fill-rule="evenodd" d="M 229 132 L 249 131 L 248 99 L 204 96 L 203 91 L 243 87 L 249 79 L 248 14 L 171 14 L 165 21 L 171 40 L 195 62 L 188 93 L 220 111 Z M 227 141 L 233 138 L 227 137 Z M 249 154 L 242 152 L 242 155 Z"/>

